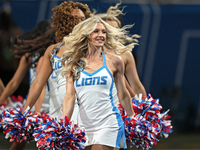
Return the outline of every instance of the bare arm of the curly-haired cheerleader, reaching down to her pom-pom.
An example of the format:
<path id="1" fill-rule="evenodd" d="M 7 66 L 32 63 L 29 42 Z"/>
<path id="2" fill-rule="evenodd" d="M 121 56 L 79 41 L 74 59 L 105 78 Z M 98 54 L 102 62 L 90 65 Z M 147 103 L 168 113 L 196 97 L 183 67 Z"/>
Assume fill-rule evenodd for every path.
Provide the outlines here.
<path id="1" fill-rule="evenodd" d="M 49 46 L 44 54 L 42 66 L 35 80 L 33 81 L 30 89 L 28 98 L 24 105 L 23 111 L 29 106 L 30 108 L 36 103 L 38 97 L 40 96 L 44 85 L 46 84 L 49 76 L 51 75 L 53 69 L 50 63 L 51 51 L 54 45 Z"/>

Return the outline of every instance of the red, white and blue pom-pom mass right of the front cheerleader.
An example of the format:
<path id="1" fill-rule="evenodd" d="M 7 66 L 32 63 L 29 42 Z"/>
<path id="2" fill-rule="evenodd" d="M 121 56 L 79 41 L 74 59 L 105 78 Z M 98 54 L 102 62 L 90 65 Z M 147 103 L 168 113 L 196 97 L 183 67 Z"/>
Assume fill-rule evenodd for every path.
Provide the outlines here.
<path id="1" fill-rule="evenodd" d="M 152 148 L 161 137 L 167 138 L 172 133 L 171 117 L 167 114 L 169 110 L 161 113 L 159 99 L 150 94 L 145 99 L 135 96 L 132 107 L 135 112 L 132 117 L 127 116 L 121 104 L 118 107 L 125 124 L 126 140 L 131 147 Z"/>

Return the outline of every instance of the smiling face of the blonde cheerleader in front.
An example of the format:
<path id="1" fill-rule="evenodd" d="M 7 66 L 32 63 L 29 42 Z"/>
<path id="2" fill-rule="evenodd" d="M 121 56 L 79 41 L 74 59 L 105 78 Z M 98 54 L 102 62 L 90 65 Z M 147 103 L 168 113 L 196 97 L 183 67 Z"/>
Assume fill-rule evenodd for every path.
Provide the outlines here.
<path id="1" fill-rule="evenodd" d="M 98 22 L 96 29 L 90 34 L 90 43 L 100 48 L 105 44 L 106 41 L 106 28 L 103 23 Z"/>

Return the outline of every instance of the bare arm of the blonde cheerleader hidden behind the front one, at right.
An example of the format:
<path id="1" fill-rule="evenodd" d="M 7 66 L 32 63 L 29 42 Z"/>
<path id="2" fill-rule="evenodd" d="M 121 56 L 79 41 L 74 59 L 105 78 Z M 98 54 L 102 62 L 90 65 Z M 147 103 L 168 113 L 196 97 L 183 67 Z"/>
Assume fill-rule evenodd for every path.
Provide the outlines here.
<path id="1" fill-rule="evenodd" d="M 132 53 L 127 51 L 123 55 L 121 55 L 121 57 L 125 63 L 126 79 L 128 80 L 128 83 L 133 89 L 133 92 L 137 95 L 142 93 L 143 96 L 146 96 L 146 90 L 139 79 L 136 69 L 135 59 Z"/>

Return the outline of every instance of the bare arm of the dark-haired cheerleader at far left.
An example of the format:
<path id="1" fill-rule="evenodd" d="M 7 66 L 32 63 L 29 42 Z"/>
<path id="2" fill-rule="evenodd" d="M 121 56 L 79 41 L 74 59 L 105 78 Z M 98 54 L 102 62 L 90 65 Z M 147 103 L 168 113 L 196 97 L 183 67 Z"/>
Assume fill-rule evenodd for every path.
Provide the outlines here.
<path id="1" fill-rule="evenodd" d="M 26 71 L 28 69 L 28 62 L 26 60 L 26 56 L 23 55 L 20 59 L 19 66 L 12 77 L 12 79 L 6 85 L 3 93 L 0 97 L 0 104 L 2 104 L 9 96 L 11 96 L 19 87 L 20 83 L 22 82 Z"/>

